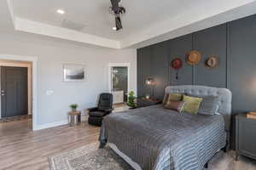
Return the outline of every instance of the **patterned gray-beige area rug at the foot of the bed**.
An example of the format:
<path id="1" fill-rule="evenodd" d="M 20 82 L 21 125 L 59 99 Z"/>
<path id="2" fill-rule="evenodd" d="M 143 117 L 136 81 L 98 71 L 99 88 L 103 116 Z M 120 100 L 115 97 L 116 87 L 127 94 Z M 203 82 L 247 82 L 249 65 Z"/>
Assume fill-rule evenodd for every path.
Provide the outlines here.
<path id="1" fill-rule="evenodd" d="M 98 149 L 99 144 L 87 144 L 49 157 L 50 170 L 133 170 L 108 146 Z"/>

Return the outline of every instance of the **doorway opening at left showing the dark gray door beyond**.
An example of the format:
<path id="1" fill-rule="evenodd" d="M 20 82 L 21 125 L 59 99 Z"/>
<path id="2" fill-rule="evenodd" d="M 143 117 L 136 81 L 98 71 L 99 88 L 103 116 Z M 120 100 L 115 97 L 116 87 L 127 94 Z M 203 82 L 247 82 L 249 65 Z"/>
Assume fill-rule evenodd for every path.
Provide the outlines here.
<path id="1" fill-rule="evenodd" d="M 26 120 L 32 125 L 31 68 L 28 61 L 0 59 L 0 122 Z"/>

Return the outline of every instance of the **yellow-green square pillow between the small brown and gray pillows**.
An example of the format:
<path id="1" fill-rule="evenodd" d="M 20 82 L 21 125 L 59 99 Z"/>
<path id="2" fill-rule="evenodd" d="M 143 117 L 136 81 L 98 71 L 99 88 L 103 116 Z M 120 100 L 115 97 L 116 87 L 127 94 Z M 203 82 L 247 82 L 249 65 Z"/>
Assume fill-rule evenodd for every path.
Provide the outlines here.
<path id="1" fill-rule="evenodd" d="M 195 97 L 183 95 L 183 101 L 185 102 L 185 105 L 183 107 L 184 112 L 197 114 L 202 98 L 195 98 Z"/>

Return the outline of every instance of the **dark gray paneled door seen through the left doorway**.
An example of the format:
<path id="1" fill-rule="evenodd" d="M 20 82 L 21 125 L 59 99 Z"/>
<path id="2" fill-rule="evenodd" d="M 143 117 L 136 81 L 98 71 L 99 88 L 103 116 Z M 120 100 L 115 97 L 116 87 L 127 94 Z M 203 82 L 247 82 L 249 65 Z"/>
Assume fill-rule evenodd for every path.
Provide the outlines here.
<path id="1" fill-rule="evenodd" d="M 27 68 L 1 66 L 1 117 L 28 115 Z"/>

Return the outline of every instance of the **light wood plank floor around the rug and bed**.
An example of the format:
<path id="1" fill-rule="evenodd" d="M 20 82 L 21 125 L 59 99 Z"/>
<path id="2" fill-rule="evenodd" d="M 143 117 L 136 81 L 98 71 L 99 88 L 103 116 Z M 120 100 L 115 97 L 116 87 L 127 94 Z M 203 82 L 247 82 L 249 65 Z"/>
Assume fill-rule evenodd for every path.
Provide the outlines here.
<path id="1" fill-rule="evenodd" d="M 30 129 L 29 121 L 0 123 L 1 170 L 49 170 L 49 156 L 94 143 L 99 135 L 98 127 L 85 123 L 36 132 Z M 213 159 L 209 170 L 256 170 L 256 161 L 245 157 L 235 161 L 230 151 Z"/>

